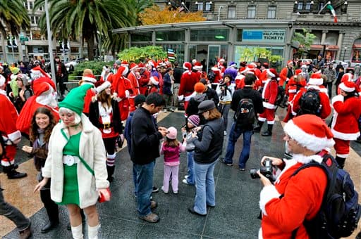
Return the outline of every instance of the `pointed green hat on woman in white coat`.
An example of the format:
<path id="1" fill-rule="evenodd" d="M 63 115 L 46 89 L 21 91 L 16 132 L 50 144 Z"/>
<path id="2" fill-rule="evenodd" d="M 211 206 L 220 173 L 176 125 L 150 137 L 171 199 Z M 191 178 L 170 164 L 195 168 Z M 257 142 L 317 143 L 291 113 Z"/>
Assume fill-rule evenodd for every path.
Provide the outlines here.
<path id="1" fill-rule="evenodd" d="M 82 110 L 84 109 L 84 97 L 87 90 L 90 88 L 92 88 L 91 84 L 82 84 L 81 86 L 72 89 L 66 98 L 59 103 L 59 108 L 67 108 L 73 110 L 78 115 L 82 115 Z"/>

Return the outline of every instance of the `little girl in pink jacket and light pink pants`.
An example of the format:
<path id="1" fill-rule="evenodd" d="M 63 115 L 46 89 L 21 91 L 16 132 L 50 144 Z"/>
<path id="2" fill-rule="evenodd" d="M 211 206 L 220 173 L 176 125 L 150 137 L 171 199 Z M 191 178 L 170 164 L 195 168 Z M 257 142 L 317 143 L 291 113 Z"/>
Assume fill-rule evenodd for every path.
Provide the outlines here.
<path id="1" fill-rule="evenodd" d="M 161 154 L 164 154 L 164 179 L 161 190 L 163 193 L 169 193 L 169 178 L 172 176 L 173 193 L 178 193 L 178 171 L 179 171 L 179 153 L 185 151 L 185 140 L 183 143 L 177 140 L 177 129 L 169 127 L 166 140 L 161 145 Z"/>

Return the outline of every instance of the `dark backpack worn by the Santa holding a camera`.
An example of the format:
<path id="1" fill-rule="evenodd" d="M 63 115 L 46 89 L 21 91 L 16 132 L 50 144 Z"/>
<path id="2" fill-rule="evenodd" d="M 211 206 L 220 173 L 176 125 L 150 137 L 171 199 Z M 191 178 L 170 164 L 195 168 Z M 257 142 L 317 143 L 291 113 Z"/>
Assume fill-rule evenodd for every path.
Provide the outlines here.
<path id="1" fill-rule="evenodd" d="M 303 221 L 311 239 L 341 238 L 350 236 L 361 217 L 361 205 L 350 174 L 337 167 L 337 162 L 329 154 L 322 153 L 322 163 L 310 162 L 299 167 L 292 176 L 307 167 L 319 167 L 327 175 L 327 187 L 322 205 L 316 217 Z M 293 238 L 298 228 L 293 231 Z"/>

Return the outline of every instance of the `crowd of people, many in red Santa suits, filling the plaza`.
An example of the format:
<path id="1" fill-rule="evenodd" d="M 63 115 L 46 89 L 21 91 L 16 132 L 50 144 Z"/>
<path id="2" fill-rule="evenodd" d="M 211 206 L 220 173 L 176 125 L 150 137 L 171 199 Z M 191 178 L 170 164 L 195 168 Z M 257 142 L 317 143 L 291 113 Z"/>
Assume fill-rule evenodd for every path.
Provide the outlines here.
<path id="1" fill-rule="evenodd" d="M 166 59 L 140 63 L 116 60 L 113 67 L 103 67 L 99 79 L 91 69 L 85 69 L 79 86 L 67 94 L 66 67 L 59 57 L 55 58 L 56 84 L 41 65 L 35 64 L 30 70 L 23 63 L 19 67 L 0 66 L 0 105 L 8 112 L 0 116 L 6 146 L 0 151 L 1 165 L 8 179 L 25 177 L 25 173 L 16 171 L 16 144 L 22 136 L 30 139 L 30 145 L 22 149 L 34 157 L 39 172 L 35 191 L 40 191 L 49 217 L 42 233 L 59 224 L 58 205 L 66 205 L 73 238 L 83 238 L 84 213 L 88 238 L 97 238 L 99 215 L 95 205 L 99 198 L 110 200 L 116 148 L 121 147 L 124 138 L 133 162 L 137 212 L 140 219 L 151 223 L 159 221 L 152 212 L 157 207 L 152 193 L 158 190 L 153 184 L 155 160 L 164 155 L 162 192 L 169 193 L 171 186 L 173 193 L 178 194 L 179 157 L 186 151 L 188 174 L 182 183 L 196 186 L 195 202 L 188 211 L 205 216 L 207 207 L 216 206 L 216 162 L 233 165 L 235 143 L 243 134 L 238 167 L 245 171 L 252 134 L 271 136 L 280 106 L 287 108 L 283 121 L 288 160 L 267 157 L 282 169 L 274 184 L 258 173 L 264 185 L 259 203 L 263 215 L 259 238 L 287 237 L 295 228 L 299 228 L 297 238 L 305 238 L 302 220 L 316 214 L 321 200 L 307 203 L 306 207 L 303 198 L 322 198 L 326 177 L 320 173 L 310 180 L 307 175 L 314 175 L 314 169 L 292 179 L 290 174 L 301 164 L 319 160 L 317 154 L 322 150 L 331 152 L 333 146 L 338 167 L 343 168 L 350 141 L 360 141 L 360 79 L 355 79 L 353 72 L 344 72 L 342 66 L 338 72 L 331 65 L 321 70 L 321 61 L 319 58 L 310 69 L 310 65 L 289 60 L 277 72 L 268 63 L 240 63 L 237 67 L 235 62 L 227 66 L 224 59 L 219 59 L 207 74 L 197 60 L 183 63 L 183 70 L 178 63 Z M 184 103 L 185 125 L 168 129 L 159 126 L 157 114 L 161 110 L 173 112 L 176 98 Z M 327 126 L 325 120 L 332 108 L 334 115 Z M 235 113 L 227 130 L 230 109 Z M 262 131 L 264 122 L 267 129 Z M 226 154 L 221 158 L 227 135 Z M 295 188 L 297 180 L 303 181 L 302 176 L 307 183 Z M 317 193 L 309 188 L 317 188 Z M 290 197 L 288 190 L 299 196 Z M 2 195 L 0 199 L 4 202 Z M 20 214 L 13 207 L 6 207 L 1 208 L 2 214 Z M 298 218 L 279 220 L 284 218 L 283 213 L 290 212 L 299 212 Z M 28 219 L 9 218 L 18 226 L 22 238 L 30 235 Z"/>

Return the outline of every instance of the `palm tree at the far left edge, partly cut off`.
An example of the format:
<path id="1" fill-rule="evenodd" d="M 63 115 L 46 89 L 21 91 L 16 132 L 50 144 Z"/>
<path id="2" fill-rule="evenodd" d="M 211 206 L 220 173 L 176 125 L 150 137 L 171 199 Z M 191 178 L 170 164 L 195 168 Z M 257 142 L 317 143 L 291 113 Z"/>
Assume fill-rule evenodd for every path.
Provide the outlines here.
<path id="1" fill-rule="evenodd" d="M 13 36 L 18 36 L 21 29 L 30 27 L 30 18 L 25 8 L 25 0 L 0 0 L 0 34 L 1 47 L 6 58 L 6 31 L 11 32 Z"/>

